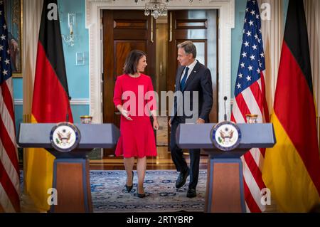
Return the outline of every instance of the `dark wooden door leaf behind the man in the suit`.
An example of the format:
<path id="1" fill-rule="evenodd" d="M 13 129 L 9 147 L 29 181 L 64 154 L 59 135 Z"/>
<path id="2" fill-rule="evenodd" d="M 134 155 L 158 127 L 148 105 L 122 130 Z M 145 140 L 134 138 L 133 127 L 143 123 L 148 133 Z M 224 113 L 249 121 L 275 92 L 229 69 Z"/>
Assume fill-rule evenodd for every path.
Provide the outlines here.
<path id="1" fill-rule="evenodd" d="M 212 75 L 213 108 L 210 112 L 210 122 L 218 122 L 218 11 L 169 11 L 168 23 L 167 90 L 174 90 L 176 69 L 179 66 L 176 59 L 178 43 L 193 41 L 197 48 L 196 59 L 206 65 Z M 168 134 L 170 139 L 170 129 Z"/>

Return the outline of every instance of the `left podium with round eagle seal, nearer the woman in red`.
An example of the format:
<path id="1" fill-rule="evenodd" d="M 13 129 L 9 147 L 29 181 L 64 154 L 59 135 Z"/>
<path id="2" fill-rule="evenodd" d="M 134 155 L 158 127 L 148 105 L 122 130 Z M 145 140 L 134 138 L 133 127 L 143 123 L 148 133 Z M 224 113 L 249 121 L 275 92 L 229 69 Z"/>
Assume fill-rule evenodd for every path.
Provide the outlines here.
<path id="1" fill-rule="evenodd" d="M 20 147 L 44 148 L 56 158 L 53 189 L 57 204 L 51 205 L 50 212 L 92 212 L 87 154 L 95 148 L 113 148 L 118 138 L 119 130 L 112 124 L 20 125 Z"/>

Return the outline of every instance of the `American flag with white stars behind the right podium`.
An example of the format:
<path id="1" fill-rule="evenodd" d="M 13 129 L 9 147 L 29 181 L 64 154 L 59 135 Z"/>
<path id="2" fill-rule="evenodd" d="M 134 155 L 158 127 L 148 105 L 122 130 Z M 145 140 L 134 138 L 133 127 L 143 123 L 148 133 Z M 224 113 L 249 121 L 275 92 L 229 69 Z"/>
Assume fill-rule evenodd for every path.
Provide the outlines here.
<path id="1" fill-rule="evenodd" d="M 268 122 L 269 112 L 265 100 L 265 53 L 263 51 L 260 12 L 257 1 L 248 0 L 245 9 L 242 48 L 237 80 L 235 101 L 231 120 L 245 123 L 247 114 L 256 114 L 257 122 Z M 262 164 L 265 149 L 250 149 L 241 157 L 245 186 L 247 212 L 265 211 L 261 203 Z"/>

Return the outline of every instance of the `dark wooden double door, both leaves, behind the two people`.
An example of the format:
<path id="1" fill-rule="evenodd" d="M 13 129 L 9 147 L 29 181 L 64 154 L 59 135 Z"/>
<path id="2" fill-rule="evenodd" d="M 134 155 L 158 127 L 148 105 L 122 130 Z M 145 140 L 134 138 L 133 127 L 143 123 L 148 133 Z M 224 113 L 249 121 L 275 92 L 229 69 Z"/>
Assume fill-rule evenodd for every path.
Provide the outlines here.
<path id="1" fill-rule="evenodd" d="M 103 120 L 120 125 L 120 113 L 114 107 L 114 84 L 122 75 L 128 53 L 139 49 L 146 53 L 145 74 L 156 81 L 156 20 L 144 16 L 144 11 L 104 10 L 103 17 Z M 166 91 L 174 91 L 178 68 L 177 45 L 193 41 L 197 47 L 197 60 L 206 65 L 213 78 L 213 109 L 210 121 L 218 120 L 218 11 L 178 10 L 169 11 L 167 19 L 168 41 L 166 59 Z M 158 78 L 161 80 L 161 78 Z M 155 88 L 155 84 L 154 84 Z M 160 94 L 159 94 L 160 95 Z M 169 132 L 170 138 L 170 132 Z M 105 150 L 105 155 L 114 154 Z"/>

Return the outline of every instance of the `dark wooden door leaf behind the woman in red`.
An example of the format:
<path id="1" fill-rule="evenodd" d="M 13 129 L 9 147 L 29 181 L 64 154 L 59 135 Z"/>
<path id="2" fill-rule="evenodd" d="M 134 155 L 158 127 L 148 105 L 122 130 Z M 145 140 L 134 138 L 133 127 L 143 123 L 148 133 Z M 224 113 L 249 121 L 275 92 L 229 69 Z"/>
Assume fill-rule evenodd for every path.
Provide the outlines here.
<path id="1" fill-rule="evenodd" d="M 155 78 L 156 23 L 144 11 L 103 11 L 103 122 L 120 127 L 120 113 L 114 107 L 114 84 L 123 74 L 124 62 L 130 51 L 138 49 L 146 53 L 148 66 L 144 74 Z M 105 156 L 114 154 L 114 149 L 105 149 Z"/>

